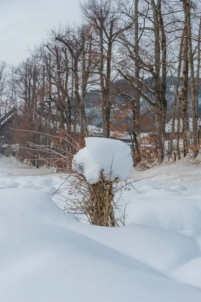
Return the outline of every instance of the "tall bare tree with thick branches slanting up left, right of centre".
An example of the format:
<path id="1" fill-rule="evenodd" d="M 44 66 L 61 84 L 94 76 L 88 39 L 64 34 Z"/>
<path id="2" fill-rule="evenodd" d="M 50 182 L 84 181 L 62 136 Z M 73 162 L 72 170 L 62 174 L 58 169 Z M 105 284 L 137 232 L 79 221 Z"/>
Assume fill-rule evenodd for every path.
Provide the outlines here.
<path id="1" fill-rule="evenodd" d="M 148 14 L 148 12 L 151 12 Z M 152 87 L 150 88 L 142 79 L 139 79 L 131 72 L 123 72 L 119 70 L 122 77 L 128 81 L 136 92 L 153 108 L 156 124 L 156 142 L 158 150 L 159 163 L 164 159 L 164 143 L 165 143 L 165 123 L 167 116 L 167 100 L 166 100 L 166 77 L 167 77 L 167 43 L 166 33 L 163 25 L 163 16 L 161 12 L 161 1 L 155 4 L 154 0 L 147 5 L 147 14 L 145 16 L 144 27 L 148 19 L 148 23 L 152 25 L 148 30 L 153 32 L 154 49 L 153 57 L 149 56 L 149 62 L 145 62 L 133 48 L 133 60 L 139 62 L 142 70 L 151 73 Z M 143 29 L 144 31 L 145 29 Z M 138 66 L 138 68 L 139 68 Z M 137 69 L 138 70 L 138 69 Z"/>

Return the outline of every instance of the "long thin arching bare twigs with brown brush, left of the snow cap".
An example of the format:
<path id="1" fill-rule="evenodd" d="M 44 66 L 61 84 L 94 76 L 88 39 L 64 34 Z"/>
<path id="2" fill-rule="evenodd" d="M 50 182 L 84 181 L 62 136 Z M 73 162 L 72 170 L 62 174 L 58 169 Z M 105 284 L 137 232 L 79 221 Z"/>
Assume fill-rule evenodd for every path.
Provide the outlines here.
<path id="1" fill-rule="evenodd" d="M 46 164 L 47 167 L 56 167 L 59 172 L 70 173 L 73 156 L 84 146 L 84 139 L 80 138 L 79 134 L 73 136 L 73 133 L 68 133 L 67 129 L 61 129 L 36 112 L 35 114 L 41 122 L 50 127 L 51 131 L 45 133 L 29 129 L 13 129 L 18 136 L 24 137 L 18 149 L 18 159 L 21 162 L 28 159 L 34 166 L 37 164 L 37 167 Z"/>

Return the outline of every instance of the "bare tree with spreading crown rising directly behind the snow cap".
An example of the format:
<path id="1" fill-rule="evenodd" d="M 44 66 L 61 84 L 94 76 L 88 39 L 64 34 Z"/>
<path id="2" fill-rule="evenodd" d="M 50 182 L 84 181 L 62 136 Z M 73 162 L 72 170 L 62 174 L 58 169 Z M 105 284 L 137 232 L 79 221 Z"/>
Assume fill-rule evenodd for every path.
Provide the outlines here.
<path id="1" fill-rule="evenodd" d="M 121 24 L 121 14 L 118 13 L 118 8 L 112 0 L 88 0 L 81 5 L 81 10 L 97 35 L 103 136 L 110 137 L 113 47 L 117 37 L 130 28 L 131 24 Z"/>

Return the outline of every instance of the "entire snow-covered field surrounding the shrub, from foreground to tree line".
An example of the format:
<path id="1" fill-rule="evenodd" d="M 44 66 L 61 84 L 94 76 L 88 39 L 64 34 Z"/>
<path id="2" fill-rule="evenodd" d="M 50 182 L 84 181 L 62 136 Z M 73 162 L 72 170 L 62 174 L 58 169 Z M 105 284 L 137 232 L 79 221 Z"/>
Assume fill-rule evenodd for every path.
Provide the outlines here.
<path id="1" fill-rule="evenodd" d="M 127 225 L 104 228 L 51 200 L 61 175 L 0 158 L 0 300 L 200 302 L 201 167 L 132 174 Z"/>

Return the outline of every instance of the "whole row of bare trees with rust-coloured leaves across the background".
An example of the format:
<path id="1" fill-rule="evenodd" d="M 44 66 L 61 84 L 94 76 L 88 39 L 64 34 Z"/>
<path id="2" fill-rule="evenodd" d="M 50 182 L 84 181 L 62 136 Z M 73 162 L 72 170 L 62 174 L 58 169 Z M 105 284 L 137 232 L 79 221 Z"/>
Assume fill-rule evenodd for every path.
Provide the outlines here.
<path id="1" fill-rule="evenodd" d="M 0 65 L 0 148 L 66 167 L 84 137 L 129 141 L 134 165 L 200 148 L 201 3 L 86 0 L 17 66 Z"/>

